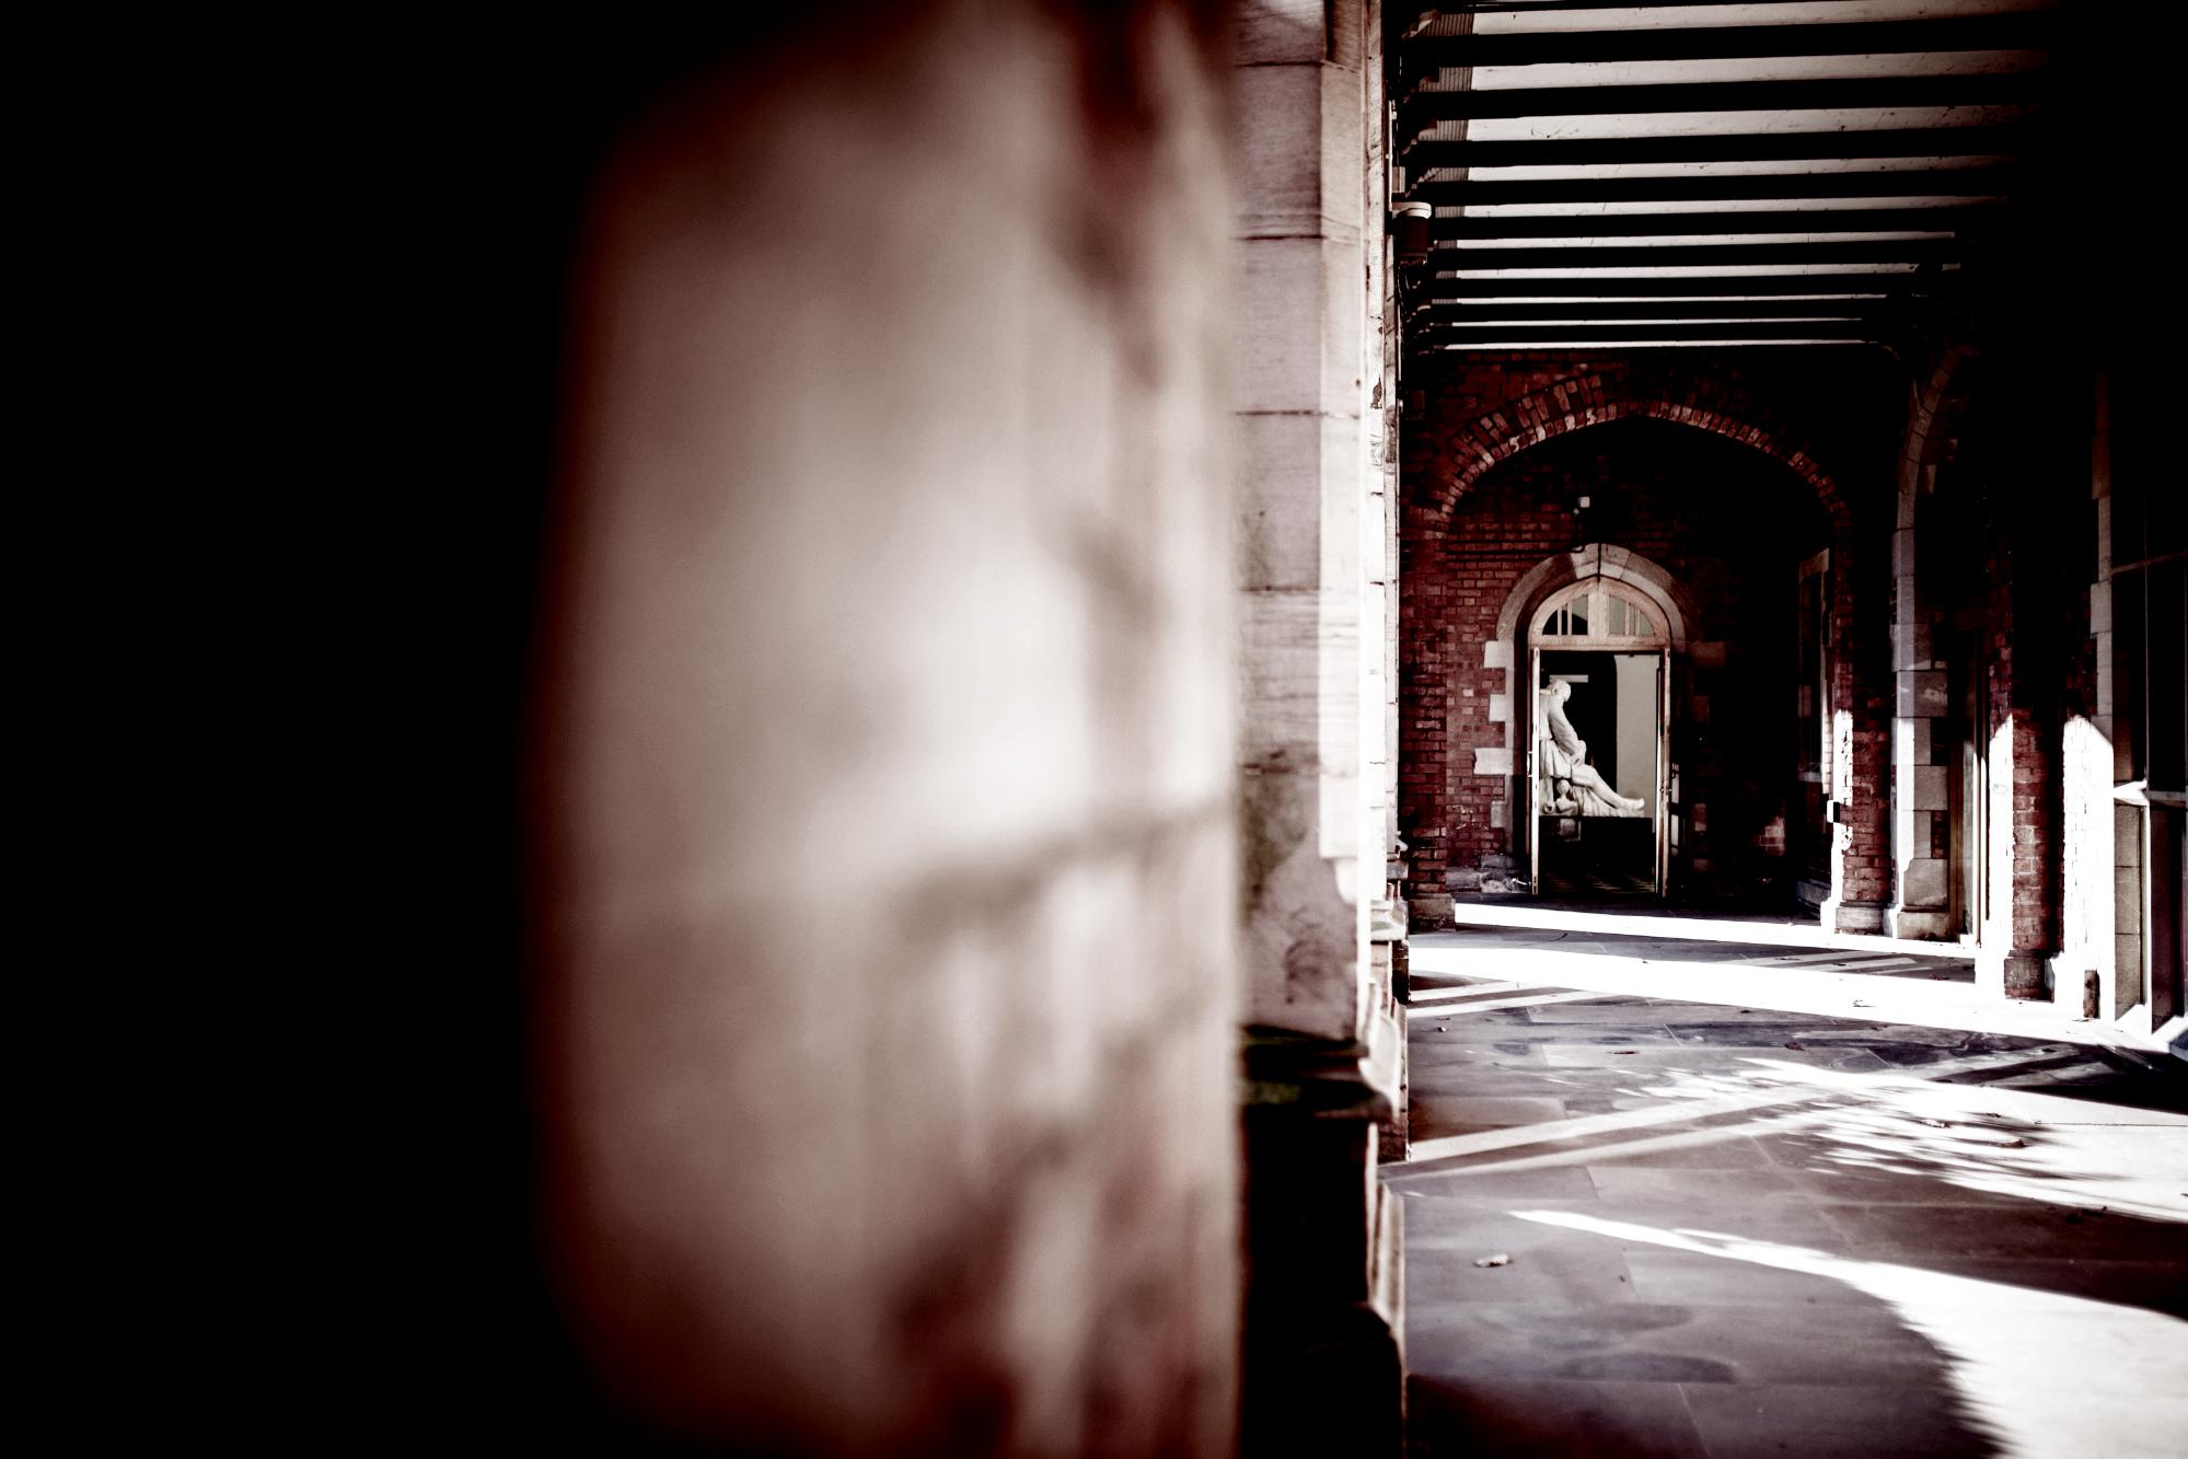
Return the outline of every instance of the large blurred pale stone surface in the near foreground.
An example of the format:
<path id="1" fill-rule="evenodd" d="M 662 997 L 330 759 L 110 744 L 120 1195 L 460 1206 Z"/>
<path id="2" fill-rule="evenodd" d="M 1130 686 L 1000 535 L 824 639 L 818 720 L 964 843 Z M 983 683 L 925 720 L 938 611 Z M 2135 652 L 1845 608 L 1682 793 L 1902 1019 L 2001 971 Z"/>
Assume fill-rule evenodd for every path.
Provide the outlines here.
<path id="1" fill-rule="evenodd" d="M 713 1448 L 1221 1455 L 1219 24 L 875 24 L 707 72 L 591 208 L 534 884 L 562 1321 L 619 1422 Z"/>

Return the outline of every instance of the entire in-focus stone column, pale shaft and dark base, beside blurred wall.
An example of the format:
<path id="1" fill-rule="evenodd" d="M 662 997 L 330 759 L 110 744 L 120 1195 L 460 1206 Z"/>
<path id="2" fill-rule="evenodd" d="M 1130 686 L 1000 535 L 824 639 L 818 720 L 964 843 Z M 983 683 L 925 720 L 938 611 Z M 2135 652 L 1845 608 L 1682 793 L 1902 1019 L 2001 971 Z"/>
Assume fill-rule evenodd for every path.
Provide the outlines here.
<path id="1" fill-rule="evenodd" d="M 1381 582 L 1381 15 L 1236 11 L 1245 1452 L 1400 1446 L 1398 1207 L 1374 1179 L 1403 1030 L 1374 958 L 1389 796 Z M 1376 155 L 1381 147 L 1376 147 Z M 1385 919 L 1387 921 L 1387 919 Z M 1387 943 L 1387 936 L 1385 936 Z M 1378 978 L 1378 965 L 1383 976 Z"/>

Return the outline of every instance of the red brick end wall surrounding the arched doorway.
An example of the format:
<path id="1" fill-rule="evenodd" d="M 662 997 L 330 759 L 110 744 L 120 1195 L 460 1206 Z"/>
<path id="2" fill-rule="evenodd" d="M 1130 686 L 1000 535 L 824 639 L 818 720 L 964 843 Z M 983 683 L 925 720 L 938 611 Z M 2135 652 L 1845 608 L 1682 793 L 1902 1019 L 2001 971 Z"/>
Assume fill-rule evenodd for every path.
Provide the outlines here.
<path id="1" fill-rule="evenodd" d="M 1783 871 L 1792 562 L 1831 545 L 1836 564 L 1866 569 L 1873 591 L 1888 591 L 1886 564 L 1864 558 L 1882 558 L 1890 518 L 1877 523 L 1875 553 L 1853 551 L 1860 490 L 1847 481 L 1871 497 L 1888 488 L 1904 383 L 1882 361 L 1847 357 L 1527 354 L 1453 357 L 1416 370 L 1407 385 L 1398 779 L 1416 914 L 1433 919 L 1446 871 L 1514 849 L 1512 807 L 1499 827 L 1490 805 L 1518 781 L 1473 772 L 1475 746 L 1505 744 L 1503 724 L 1488 720 L 1488 696 L 1505 691 L 1505 672 L 1483 667 L 1481 643 L 1494 637 L 1516 580 L 1582 534 L 1672 571 L 1696 599 L 1689 637 L 1733 645 L 1726 669 L 1674 674 L 1674 693 L 1704 698 L 1713 726 L 1707 733 L 1674 715 L 1685 720 L 1674 731 L 1683 798 L 1709 807 L 1707 831 L 1689 836 L 1683 853 L 1731 884 Z M 1823 462 L 1844 462 L 1851 477 Z M 1582 490 L 1623 503 L 1623 521 L 1582 527 L 1569 510 Z M 1842 575 L 1834 597 L 1840 672 L 1831 700 L 1853 711 L 1860 794 L 1849 807 L 1844 895 L 1882 901 L 1890 890 L 1888 604 L 1879 595 L 1858 612 L 1853 584 Z M 1788 682 L 1755 693 L 1753 676 Z M 1523 678 L 1525 665 L 1514 682 Z"/>

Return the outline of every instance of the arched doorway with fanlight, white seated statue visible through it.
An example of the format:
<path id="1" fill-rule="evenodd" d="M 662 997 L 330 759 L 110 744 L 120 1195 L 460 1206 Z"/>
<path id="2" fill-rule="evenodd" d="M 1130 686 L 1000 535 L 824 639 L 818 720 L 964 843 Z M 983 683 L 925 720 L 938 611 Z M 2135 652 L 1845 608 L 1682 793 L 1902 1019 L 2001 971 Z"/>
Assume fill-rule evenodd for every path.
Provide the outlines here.
<path id="1" fill-rule="evenodd" d="M 1663 897 L 1672 805 L 1672 632 L 1637 586 L 1591 575 L 1527 623 L 1527 886 Z"/>

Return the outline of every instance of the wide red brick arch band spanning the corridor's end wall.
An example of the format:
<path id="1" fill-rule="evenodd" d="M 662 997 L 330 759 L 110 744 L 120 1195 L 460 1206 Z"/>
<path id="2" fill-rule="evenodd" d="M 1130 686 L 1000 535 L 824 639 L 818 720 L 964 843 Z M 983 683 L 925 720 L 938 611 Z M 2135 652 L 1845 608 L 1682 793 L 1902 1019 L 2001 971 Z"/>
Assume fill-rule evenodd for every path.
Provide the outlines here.
<path id="1" fill-rule="evenodd" d="M 1737 381 L 1661 365 L 1573 374 L 1444 431 L 1435 457 L 1451 468 L 1422 486 L 1422 505 L 1448 516 L 1481 477 L 1521 451 L 1613 420 L 1669 420 L 1753 446 L 1807 481 L 1834 532 L 1851 525 L 1838 481 L 1766 402 Z"/>

